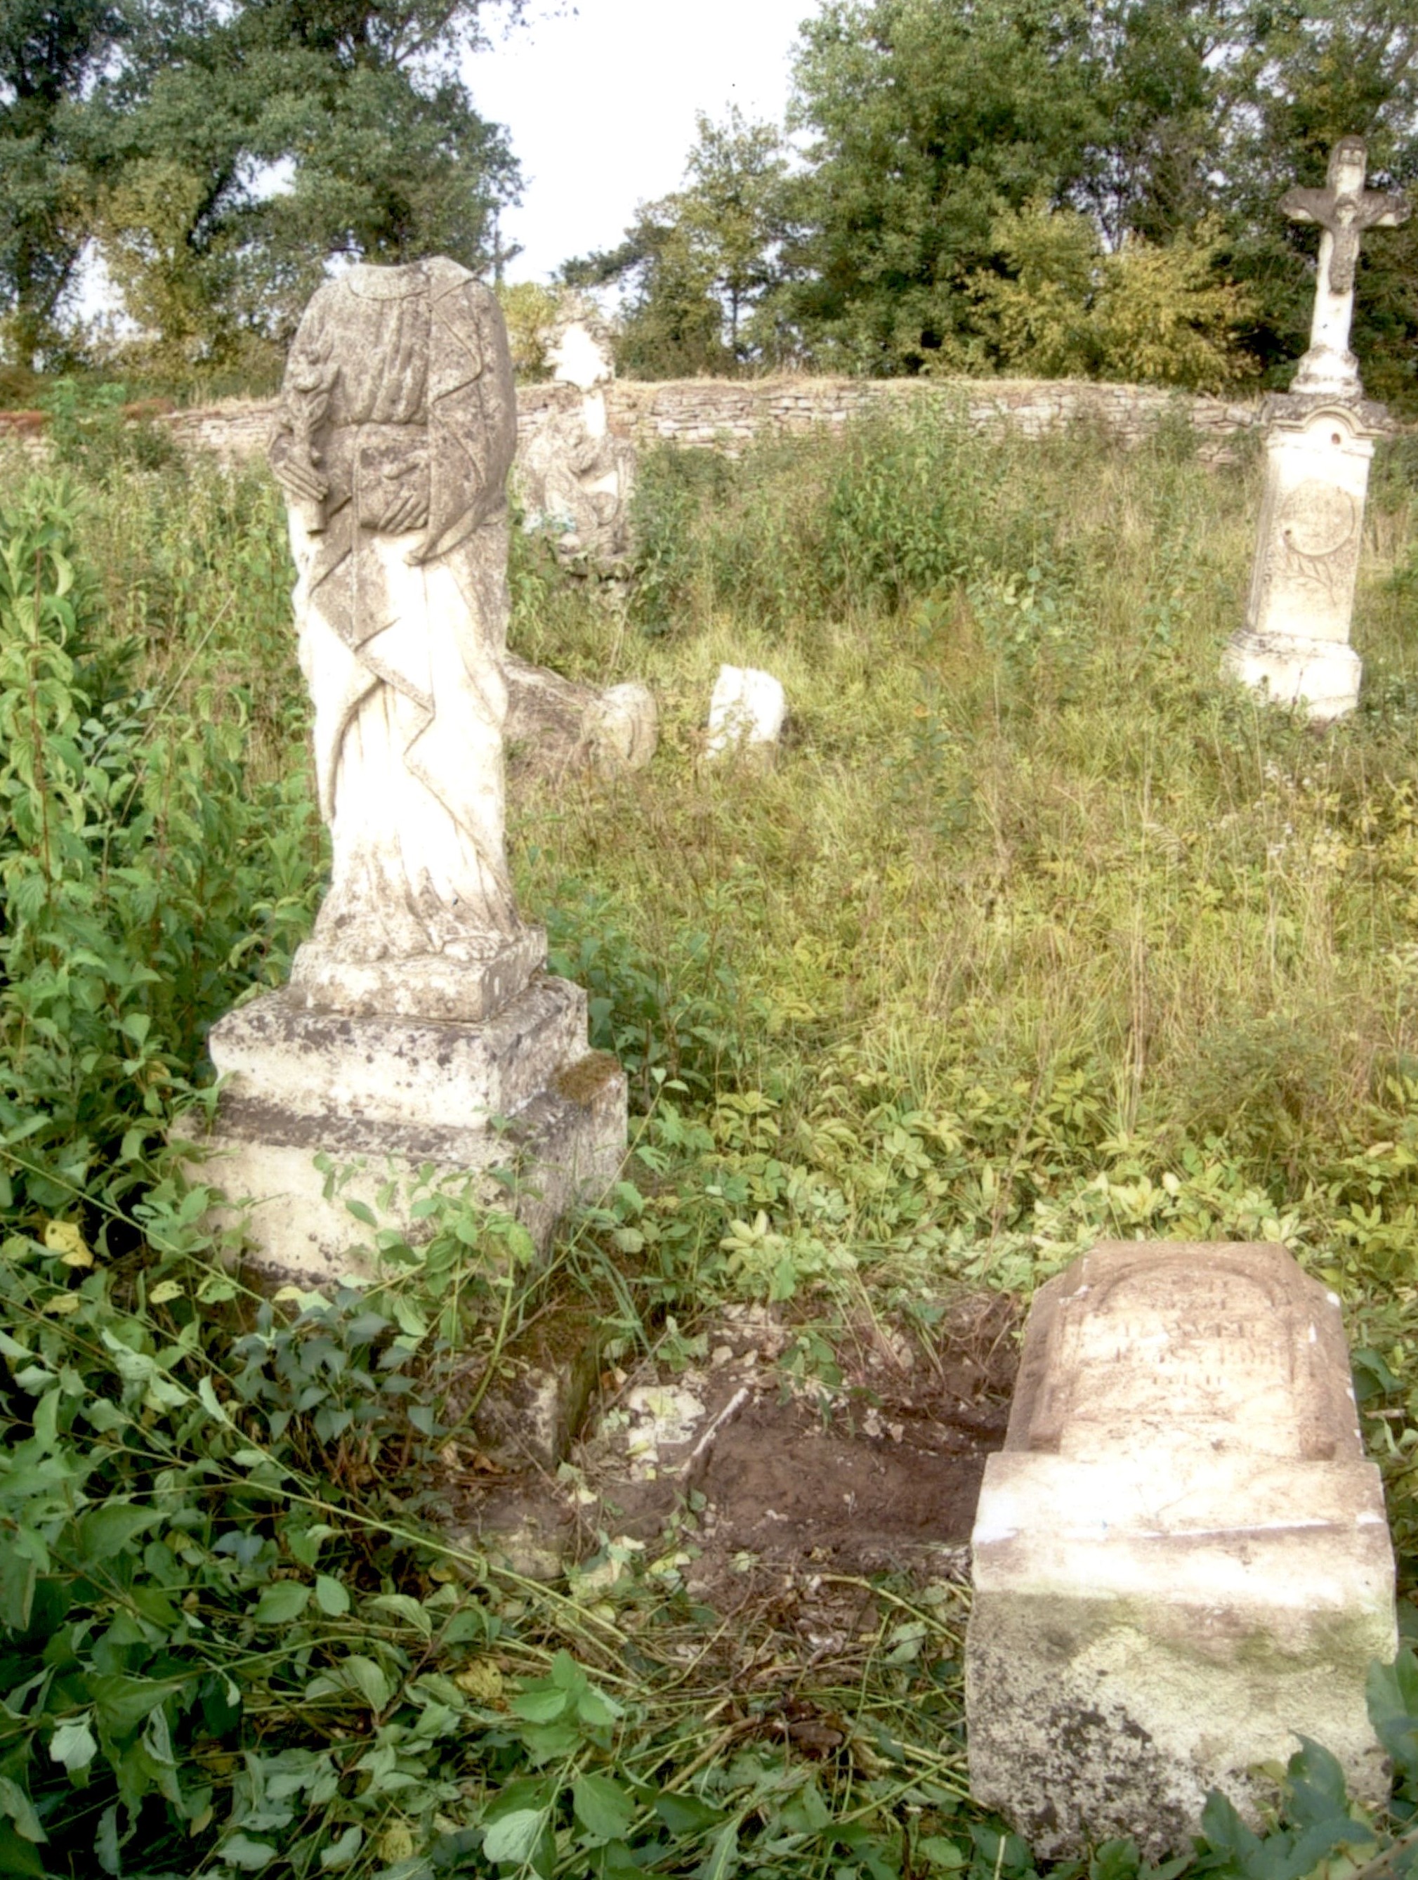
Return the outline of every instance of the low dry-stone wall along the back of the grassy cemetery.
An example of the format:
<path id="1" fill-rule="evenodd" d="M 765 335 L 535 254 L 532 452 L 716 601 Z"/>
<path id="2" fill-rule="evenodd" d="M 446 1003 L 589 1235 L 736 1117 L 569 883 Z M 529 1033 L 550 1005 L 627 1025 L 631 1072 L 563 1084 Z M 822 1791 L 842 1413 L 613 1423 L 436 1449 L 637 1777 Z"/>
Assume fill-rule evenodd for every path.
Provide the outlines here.
<path id="1" fill-rule="evenodd" d="M 611 432 L 638 447 L 690 444 L 737 453 L 760 432 L 844 425 L 858 412 L 901 408 L 922 399 L 963 410 L 976 431 L 1012 425 L 1027 436 L 1042 436 L 1072 421 L 1091 421 L 1128 444 L 1142 440 L 1164 414 L 1177 412 L 1196 432 L 1205 462 L 1230 461 L 1236 438 L 1260 421 L 1258 399 L 1207 399 L 1153 385 L 1100 385 L 1059 378 L 615 380 L 606 387 L 606 415 Z M 517 421 L 523 438 L 581 400 L 583 395 L 572 385 L 521 385 Z M 229 402 L 177 412 L 169 423 L 186 444 L 243 459 L 265 449 L 273 417 L 273 400 Z"/>

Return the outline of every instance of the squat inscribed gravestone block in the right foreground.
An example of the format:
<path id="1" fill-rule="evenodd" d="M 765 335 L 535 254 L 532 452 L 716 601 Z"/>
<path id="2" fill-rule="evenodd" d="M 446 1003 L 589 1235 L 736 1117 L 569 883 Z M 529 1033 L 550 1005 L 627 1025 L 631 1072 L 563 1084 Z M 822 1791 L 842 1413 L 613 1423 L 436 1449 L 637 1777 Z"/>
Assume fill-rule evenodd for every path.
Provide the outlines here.
<path id="1" fill-rule="evenodd" d="M 1298 1733 L 1380 1803 L 1394 1553 L 1333 1293 L 1279 1246 L 1110 1243 L 1029 1316 L 974 1528 L 970 1786 L 1044 1856 L 1187 1846 Z"/>

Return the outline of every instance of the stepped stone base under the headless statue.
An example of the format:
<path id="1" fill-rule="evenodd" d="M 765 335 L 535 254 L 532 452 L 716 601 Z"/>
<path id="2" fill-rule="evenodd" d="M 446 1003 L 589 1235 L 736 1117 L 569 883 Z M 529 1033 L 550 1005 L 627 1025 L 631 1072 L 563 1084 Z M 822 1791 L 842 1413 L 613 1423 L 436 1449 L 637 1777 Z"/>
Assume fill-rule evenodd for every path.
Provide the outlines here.
<path id="1" fill-rule="evenodd" d="M 370 1278 L 372 1230 L 348 1203 L 416 1243 L 431 1190 L 510 1209 L 545 1248 L 624 1156 L 624 1072 L 585 1038 L 585 993 L 545 974 L 480 1025 L 308 1011 L 271 993 L 213 1028 L 224 1085 L 199 1175 L 282 1282 Z"/>

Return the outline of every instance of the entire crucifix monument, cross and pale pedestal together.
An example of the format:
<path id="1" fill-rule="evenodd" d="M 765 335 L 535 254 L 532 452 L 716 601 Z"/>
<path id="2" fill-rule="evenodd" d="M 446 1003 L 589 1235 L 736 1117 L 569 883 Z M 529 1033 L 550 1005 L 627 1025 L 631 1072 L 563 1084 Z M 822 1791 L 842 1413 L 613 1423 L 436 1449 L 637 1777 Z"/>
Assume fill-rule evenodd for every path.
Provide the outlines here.
<path id="1" fill-rule="evenodd" d="M 1360 235 L 1409 216 L 1401 196 L 1365 190 L 1363 139 L 1341 137 L 1322 190 L 1288 190 L 1281 209 L 1318 222 L 1320 259 L 1309 352 L 1294 385 L 1266 400 L 1266 496 L 1245 626 L 1224 669 L 1311 718 L 1339 718 L 1360 696 L 1348 643 L 1363 500 L 1382 404 L 1363 397 L 1348 350 Z"/>

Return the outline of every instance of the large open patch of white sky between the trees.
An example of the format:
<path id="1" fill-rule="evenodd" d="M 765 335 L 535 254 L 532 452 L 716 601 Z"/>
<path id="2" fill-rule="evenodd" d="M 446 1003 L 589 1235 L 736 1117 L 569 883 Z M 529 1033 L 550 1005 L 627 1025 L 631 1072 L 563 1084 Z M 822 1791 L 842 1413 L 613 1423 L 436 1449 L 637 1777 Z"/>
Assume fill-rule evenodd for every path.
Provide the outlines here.
<path id="1" fill-rule="evenodd" d="M 470 60 L 478 111 L 506 124 L 527 182 L 502 239 L 510 280 L 611 248 L 636 203 L 679 186 L 694 113 L 782 118 L 788 53 L 814 0 L 575 0 Z"/>

